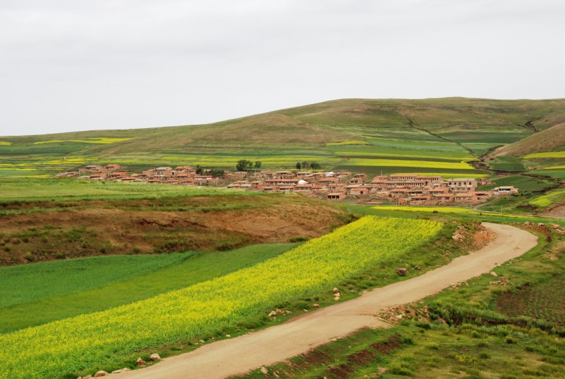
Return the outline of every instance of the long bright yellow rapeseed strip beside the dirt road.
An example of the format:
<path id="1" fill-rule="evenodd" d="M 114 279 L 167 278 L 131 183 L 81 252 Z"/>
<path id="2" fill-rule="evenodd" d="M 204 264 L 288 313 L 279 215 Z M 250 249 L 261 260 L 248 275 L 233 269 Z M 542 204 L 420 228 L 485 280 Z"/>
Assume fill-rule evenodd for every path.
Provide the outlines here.
<path id="1" fill-rule="evenodd" d="M 242 269 L 106 311 L 0 336 L 0 378 L 54 378 L 96 369 L 134 351 L 245 320 L 278 303 L 338 285 L 382 258 L 430 240 L 441 223 L 365 216 L 291 251 Z"/>

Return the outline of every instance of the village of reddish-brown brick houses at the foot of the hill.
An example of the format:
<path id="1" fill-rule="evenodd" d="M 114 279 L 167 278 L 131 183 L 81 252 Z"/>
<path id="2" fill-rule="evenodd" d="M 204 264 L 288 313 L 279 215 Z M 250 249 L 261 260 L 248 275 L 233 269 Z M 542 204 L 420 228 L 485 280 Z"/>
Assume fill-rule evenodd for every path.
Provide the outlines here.
<path id="1" fill-rule="evenodd" d="M 197 174 L 197 171 L 200 171 Z M 223 171 L 222 177 L 203 173 L 191 166 L 157 167 L 141 174 L 126 172 L 121 165 L 87 165 L 77 172 L 57 176 L 88 178 L 91 181 L 164 183 L 169 185 L 212 185 L 258 192 L 298 193 L 313 198 L 360 203 L 393 202 L 398 205 L 453 205 L 482 203 L 492 196 L 517 194 L 512 186 L 477 191 L 492 185 L 488 178 L 444 178 L 418 174 L 378 175 L 364 173 L 314 172 L 299 170 Z"/>

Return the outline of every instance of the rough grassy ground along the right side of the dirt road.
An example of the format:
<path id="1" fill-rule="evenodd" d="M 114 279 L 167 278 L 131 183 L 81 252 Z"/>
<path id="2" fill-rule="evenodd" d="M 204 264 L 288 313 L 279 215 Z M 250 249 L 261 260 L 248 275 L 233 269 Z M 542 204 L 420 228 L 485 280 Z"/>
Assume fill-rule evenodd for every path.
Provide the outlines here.
<path id="1" fill-rule="evenodd" d="M 547 229 L 546 229 L 547 230 Z M 267 367 L 280 378 L 563 378 L 561 311 L 564 240 L 528 229 L 537 247 L 493 271 L 413 303 L 391 328 L 364 329 Z M 561 280 L 558 282 L 558 280 Z M 554 301 L 525 302 L 528 314 L 501 314 L 501 298 L 551 287 Z M 560 305 L 559 305 L 560 304 Z M 555 307 L 557 306 L 557 309 Z M 560 307 L 560 308 L 559 308 Z M 551 313 L 553 312 L 553 313 Z M 506 313 L 506 312 L 504 312 Z M 256 369 L 238 378 L 263 378 Z"/>

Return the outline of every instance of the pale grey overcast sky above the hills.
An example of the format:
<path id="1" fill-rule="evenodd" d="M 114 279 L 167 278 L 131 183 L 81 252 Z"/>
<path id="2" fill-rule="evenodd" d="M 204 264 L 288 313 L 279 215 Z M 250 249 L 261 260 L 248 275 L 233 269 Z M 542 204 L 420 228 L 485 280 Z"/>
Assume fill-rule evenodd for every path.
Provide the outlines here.
<path id="1" fill-rule="evenodd" d="M 0 135 L 565 97 L 565 1 L 1 0 Z"/>

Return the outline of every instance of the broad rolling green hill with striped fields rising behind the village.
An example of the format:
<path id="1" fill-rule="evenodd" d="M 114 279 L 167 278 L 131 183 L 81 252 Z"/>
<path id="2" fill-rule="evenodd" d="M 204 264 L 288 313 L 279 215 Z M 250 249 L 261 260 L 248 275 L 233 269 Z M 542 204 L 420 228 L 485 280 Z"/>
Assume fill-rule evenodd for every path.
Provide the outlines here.
<path id="1" fill-rule="evenodd" d="M 207 125 L 0 137 L 0 176 L 50 175 L 88 163 L 233 169 L 242 158 L 264 168 L 316 161 L 326 170 L 369 174 L 484 176 L 490 172 L 467 161 L 533 134 L 551 135 L 564 122 L 565 99 L 336 100 Z"/>

